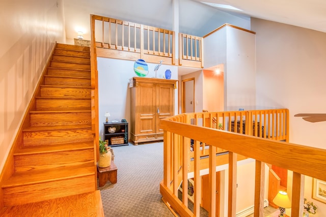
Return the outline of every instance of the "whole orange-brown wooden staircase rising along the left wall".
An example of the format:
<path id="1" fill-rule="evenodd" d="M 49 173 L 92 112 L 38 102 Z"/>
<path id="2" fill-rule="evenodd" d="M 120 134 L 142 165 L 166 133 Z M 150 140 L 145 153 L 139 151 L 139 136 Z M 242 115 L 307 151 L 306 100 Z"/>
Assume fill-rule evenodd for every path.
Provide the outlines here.
<path id="1" fill-rule="evenodd" d="M 12 175 L 2 180 L 6 210 L 89 193 L 98 198 L 90 69 L 89 47 L 56 45 L 13 153 Z"/>

